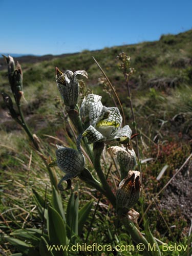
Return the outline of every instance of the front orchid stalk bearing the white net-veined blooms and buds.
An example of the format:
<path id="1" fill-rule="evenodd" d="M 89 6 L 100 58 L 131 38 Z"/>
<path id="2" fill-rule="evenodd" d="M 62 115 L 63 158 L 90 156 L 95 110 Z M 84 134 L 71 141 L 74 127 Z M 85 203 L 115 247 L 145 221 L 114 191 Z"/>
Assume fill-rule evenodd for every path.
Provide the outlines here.
<path id="1" fill-rule="evenodd" d="M 77 150 L 68 147 L 57 146 L 56 160 L 50 166 L 57 165 L 65 176 L 58 183 L 67 181 L 68 187 L 71 179 L 79 177 L 92 187 L 100 191 L 115 207 L 116 212 L 124 224 L 127 231 L 131 234 L 136 243 L 143 243 L 147 248 L 147 240 L 154 242 L 151 232 L 144 238 L 139 231 L 137 220 L 138 212 L 132 207 L 137 203 L 141 191 L 141 177 L 136 166 L 136 154 L 131 146 L 132 130 L 129 125 L 122 125 L 122 116 L 117 107 L 106 107 L 101 102 L 101 96 L 89 94 L 82 100 L 80 109 L 78 106 L 79 84 L 76 78 L 82 75 L 88 78 L 86 71 L 67 70 L 65 73 L 56 68 L 56 83 L 59 92 L 66 105 L 69 118 L 76 127 Z M 85 157 L 81 151 L 80 142 L 83 140 L 94 170 L 86 168 Z M 121 172 L 121 182 L 114 195 L 108 181 L 106 180 L 100 163 L 101 154 L 105 145 L 116 143 L 118 145 L 108 147 L 109 154 L 117 158 Z M 93 176 L 98 176 L 99 181 Z M 147 233 L 147 232 L 146 232 Z M 158 248 L 158 245 L 157 245 Z M 155 253 L 155 254 L 154 254 Z M 148 252 L 148 255 L 152 255 Z M 160 255 L 159 249 L 153 255 Z"/>

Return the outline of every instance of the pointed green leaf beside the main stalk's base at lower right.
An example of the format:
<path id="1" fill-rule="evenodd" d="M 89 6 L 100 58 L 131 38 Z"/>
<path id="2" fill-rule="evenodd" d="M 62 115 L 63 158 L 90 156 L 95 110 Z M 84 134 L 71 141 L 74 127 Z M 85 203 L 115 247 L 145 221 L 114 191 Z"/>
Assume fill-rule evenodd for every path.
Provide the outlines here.
<path id="1" fill-rule="evenodd" d="M 147 221 L 145 223 L 145 234 L 146 234 L 146 239 L 149 243 L 148 248 L 150 248 L 150 250 L 148 250 L 148 252 L 150 254 L 152 254 L 153 256 L 161 256 L 161 251 L 160 251 L 159 245 L 158 245 L 157 241 L 154 239 L 153 234 L 148 226 Z"/>

